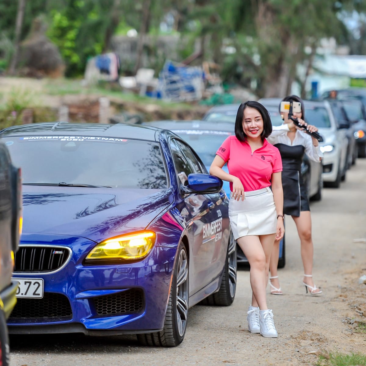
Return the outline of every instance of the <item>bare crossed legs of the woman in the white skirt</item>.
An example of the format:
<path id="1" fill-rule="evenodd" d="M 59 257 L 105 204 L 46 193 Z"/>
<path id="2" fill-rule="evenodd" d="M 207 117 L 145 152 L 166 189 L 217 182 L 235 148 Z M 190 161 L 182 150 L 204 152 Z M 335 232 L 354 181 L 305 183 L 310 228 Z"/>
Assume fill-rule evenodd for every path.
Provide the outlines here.
<path id="1" fill-rule="evenodd" d="M 242 236 L 237 240 L 250 264 L 250 285 L 253 291 L 252 306 L 266 310 L 266 285 L 268 283 L 269 258 L 275 234 Z"/>

